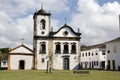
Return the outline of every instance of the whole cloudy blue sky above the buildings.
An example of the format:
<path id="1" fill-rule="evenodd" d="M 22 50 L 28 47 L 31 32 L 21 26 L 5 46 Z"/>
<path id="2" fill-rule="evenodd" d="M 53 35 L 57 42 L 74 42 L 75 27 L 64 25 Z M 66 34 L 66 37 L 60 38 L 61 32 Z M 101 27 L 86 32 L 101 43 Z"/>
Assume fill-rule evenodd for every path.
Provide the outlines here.
<path id="1" fill-rule="evenodd" d="M 43 8 L 51 12 L 57 31 L 66 23 L 80 28 L 81 44 L 94 45 L 120 36 L 120 0 L 0 0 L 0 48 L 24 44 L 32 48 L 33 14 Z"/>

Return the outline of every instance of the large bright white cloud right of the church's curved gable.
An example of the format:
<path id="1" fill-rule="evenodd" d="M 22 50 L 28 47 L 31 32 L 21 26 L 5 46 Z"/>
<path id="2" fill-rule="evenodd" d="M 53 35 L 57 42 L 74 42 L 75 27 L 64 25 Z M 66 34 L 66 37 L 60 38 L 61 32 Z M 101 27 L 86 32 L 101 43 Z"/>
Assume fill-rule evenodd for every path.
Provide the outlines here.
<path id="1" fill-rule="evenodd" d="M 81 29 L 83 44 L 102 43 L 118 36 L 119 9 L 118 2 L 100 6 L 98 0 L 79 0 L 71 25 Z"/>

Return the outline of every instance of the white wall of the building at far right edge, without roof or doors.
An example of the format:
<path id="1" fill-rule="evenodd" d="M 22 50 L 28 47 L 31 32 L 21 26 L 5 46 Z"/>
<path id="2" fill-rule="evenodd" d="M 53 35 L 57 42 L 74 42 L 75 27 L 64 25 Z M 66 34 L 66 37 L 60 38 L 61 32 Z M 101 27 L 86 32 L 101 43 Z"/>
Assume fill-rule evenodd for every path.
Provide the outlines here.
<path id="1" fill-rule="evenodd" d="M 107 59 L 110 60 L 111 70 L 113 70 L 113 60 L 115 60 L 115 70 L 118 70 L 118 66 L 120 66 L 120 41 L 106 43 L 106 52 Z"/>

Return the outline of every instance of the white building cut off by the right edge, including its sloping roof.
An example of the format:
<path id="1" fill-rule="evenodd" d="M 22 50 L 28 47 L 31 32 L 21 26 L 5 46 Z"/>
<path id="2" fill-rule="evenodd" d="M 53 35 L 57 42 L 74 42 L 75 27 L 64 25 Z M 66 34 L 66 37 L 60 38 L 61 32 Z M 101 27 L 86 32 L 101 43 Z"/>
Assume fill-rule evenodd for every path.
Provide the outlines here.
<path id="1" fill-rule="evenodd" d="M 108 70 L 120 70 L 120 37 L 106 43 Z"/>

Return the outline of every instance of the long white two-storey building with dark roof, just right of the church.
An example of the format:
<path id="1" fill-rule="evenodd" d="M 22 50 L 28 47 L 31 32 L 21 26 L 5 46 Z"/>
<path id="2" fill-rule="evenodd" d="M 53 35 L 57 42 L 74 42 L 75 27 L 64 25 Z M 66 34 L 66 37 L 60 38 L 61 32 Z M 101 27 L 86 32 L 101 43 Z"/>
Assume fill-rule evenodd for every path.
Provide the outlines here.
<path id="1" fill-rule="evenodd" d="M 81 68 L 82 69 L 106 69 L 105 44 L 82 47 Z"/>

